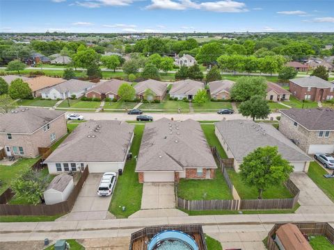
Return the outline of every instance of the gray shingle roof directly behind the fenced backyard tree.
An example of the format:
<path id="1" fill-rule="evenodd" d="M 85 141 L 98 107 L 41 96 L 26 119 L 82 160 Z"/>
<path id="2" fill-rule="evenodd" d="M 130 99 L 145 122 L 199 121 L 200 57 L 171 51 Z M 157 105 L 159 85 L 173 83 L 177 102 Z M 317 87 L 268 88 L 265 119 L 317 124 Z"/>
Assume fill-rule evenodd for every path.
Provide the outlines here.
<path id="1" fill-rule="evenodd" d="M 229 120 L 216 122 L 215 126 L 238 161 L 242 161 L 248 153 L 258 147 L 266 146 L 277 146 L 278 152 L 289 161 L 311 160 L 271 124 L 257 124 L 249 120 Z"/>

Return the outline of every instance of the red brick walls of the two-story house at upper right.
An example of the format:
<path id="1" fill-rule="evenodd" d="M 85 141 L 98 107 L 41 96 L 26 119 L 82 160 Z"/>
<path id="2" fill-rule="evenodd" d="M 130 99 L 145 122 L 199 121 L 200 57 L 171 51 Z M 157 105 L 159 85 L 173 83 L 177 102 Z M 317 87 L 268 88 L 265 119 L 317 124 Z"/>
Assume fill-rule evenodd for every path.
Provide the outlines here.
<path id="1" fill-rule="evenodd" d="M 308 88 L 303 88 L 296 83 L 289 82 L 289 92 L 292 92 L 294 97 L 299 100 L 304 100 L 305 95 L 310 95 L 310 101 L 326 101 L 327 96 L 334 96 L 334 92 L 331 91 L 331 88 L 311 88 L 308 91 Z"/>

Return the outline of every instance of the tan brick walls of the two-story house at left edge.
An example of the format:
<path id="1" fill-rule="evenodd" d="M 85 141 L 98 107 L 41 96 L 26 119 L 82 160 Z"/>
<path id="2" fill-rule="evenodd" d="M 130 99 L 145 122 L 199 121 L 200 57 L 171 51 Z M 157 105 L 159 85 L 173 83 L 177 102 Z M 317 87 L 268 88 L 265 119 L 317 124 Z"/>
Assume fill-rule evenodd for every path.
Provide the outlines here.
<path id="1" fill-rule="evenodd" d="M 32 134 L 19 134 L 11 133 L 12 140 L 8 140 L 7 133 L 0 133 L 0 144 L 10 147 L 12 156 L 14 155 L 13 147 L 22 147 L 25 158 L 35 158 L 38 156 L 38 147 L 50 147 L 51 144 L 62 138 L 67 133 L 65 115 L 54 119 L 50 122 L 50 129 L 46 132 L 43 131 L 43 127 L 39 128 Z M 51 142 L 50 135 L 56 134 L 56 140 Z"/>

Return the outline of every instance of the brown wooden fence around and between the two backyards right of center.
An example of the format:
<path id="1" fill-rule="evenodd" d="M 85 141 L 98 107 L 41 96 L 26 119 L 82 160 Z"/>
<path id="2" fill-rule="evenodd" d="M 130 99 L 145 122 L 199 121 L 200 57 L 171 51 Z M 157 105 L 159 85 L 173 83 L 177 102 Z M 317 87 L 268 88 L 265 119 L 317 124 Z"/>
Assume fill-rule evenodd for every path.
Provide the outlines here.
<path id="1" fill-rule="evenodd" d="M 288 179 L 284 184 L 287 190 L 293 195 L 287 199 L 241 199 L 237 189 L 234 187 L 226 168 L 233 167 L 233 159 L 223 159 L 215 147 L 212 153 L 218 164 L 216 171 L 221 171 L 228 188 L 232 194 L 232 200 L 186 200 L 177 197 L 177 208 L 184 210 L 270 210 L 270 209 L 292 209 L 299 199 L 300 190 Z"/>

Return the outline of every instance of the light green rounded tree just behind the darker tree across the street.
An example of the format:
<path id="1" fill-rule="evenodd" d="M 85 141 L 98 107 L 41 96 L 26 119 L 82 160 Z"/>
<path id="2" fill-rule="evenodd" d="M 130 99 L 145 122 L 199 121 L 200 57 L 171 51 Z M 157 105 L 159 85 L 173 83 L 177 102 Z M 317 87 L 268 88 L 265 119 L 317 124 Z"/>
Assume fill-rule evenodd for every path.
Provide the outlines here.
<path id="1" fill-rule="evenodd" d="M 266 96 L 267 80 L 261 76 L 241 76 L 231 89 L 231 98 L 234 101 L 247 101 L 255 94 L 262 98 Z"/>

